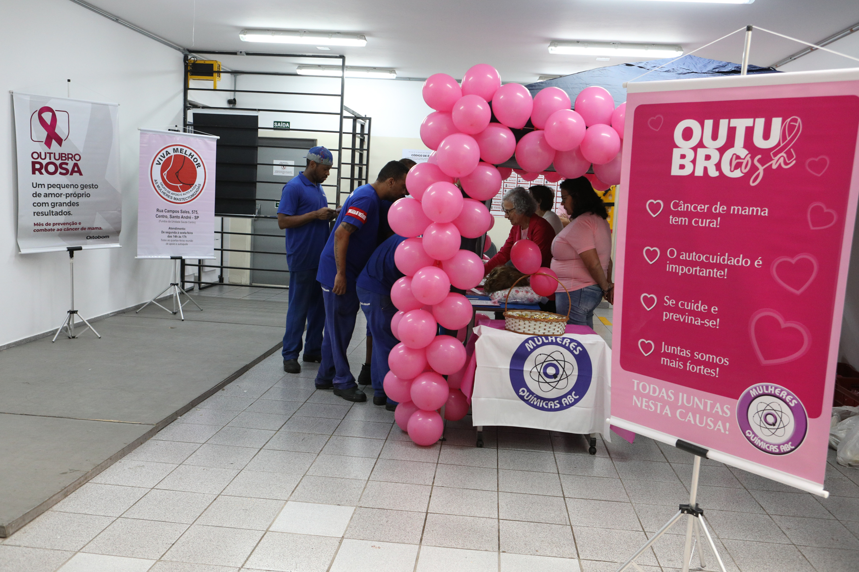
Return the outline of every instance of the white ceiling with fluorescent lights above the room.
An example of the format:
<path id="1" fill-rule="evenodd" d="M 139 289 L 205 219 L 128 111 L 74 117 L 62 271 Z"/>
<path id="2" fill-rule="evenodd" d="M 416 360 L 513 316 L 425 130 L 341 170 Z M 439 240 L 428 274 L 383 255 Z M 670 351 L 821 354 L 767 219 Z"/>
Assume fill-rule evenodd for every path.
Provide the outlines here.
<path id="1" fill-rule="evenodd" d="M 751 5 L 639 0 L 91 0 L 101 9 L 189 49 L 343 53 L 349 65 L 399 76 L 462 77 L 490 63 L 503 81 L 536 81 L 641 58 L 597 62 L 547 50 L 553 39 L 679 44 L 686 52 L 746 24 L 816 42 L 859 22 L 857 0 L 756 0 Z M 196 4 L 196 18 L 194 17 Z M 366 47 L 242 42 L 245 27 L 363 33 Z M 742 33 L 696 55 L 739 62 Z M 770 65 L 802 45 L 754 33 L 751 63 Z M 317 62 L 325 63 L 325 62 Z"/>

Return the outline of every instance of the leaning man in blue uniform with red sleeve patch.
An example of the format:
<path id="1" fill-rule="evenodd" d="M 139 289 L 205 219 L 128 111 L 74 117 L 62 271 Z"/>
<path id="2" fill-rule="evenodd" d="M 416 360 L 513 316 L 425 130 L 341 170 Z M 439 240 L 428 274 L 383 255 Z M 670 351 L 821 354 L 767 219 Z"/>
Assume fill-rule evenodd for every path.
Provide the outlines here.
<path id="1" fill-rule="evenodd" d="M 405 196 L 408 171 L 402 163 L 390 161 L 375 183 L 358 187 L 344 202 L 322 250 L 316 280 L 325 299 L 325 336 L 316 387 L 334 388 L 344 400 L 367 400 L 356 386 L 346 355 L 359 307 L 356 280 L 377 244 L 381 201 Z"/>

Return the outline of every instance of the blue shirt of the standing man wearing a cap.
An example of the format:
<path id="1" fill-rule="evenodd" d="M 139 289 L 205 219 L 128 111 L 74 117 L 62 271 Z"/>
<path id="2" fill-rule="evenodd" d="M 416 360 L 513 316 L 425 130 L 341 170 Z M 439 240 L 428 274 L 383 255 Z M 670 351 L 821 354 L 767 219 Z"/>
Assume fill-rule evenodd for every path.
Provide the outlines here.
<path id="1" fill-rule="evenodd" d="M 297 177 L 283 185 L 277 212 L 295 216 L 327 206 L 328 198 L 322 185 L 311 183 L 304 173 L 298 173 Z M 289 270 L 300 272 L 318 268 L 327 238 L 327 220 L 314 219 L 304 226 L 286 229 L 286 262 Z"/>

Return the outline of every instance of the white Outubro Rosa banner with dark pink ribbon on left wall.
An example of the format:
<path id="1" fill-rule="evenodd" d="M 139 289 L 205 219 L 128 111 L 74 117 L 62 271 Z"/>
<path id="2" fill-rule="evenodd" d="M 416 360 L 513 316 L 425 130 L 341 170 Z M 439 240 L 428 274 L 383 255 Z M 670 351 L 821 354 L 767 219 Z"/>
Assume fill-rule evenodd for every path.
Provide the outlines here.
<path id="1" fill-rule="evenodd" d="M 119 247 L 119 105 L 13 93 L 18 248 Z"/>

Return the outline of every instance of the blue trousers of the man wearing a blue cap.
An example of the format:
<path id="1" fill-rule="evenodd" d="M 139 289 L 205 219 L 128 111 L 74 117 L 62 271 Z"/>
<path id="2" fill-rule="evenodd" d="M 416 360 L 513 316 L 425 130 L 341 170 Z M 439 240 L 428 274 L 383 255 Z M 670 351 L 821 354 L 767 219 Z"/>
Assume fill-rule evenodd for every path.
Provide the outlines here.
<path id="1" fill-rule="evenodd" d="M 322 328 L 325 325 L 325 304 L 322 286 L 316 281 L 316 268 L 289 272 L 289 307 L 286 309 L 286 333 L 283 334 L 283 359 L 298 359 L 302 351 L 304 324 L 308 335 L 304 355 L 318 356 L 322 352 Z"/>

